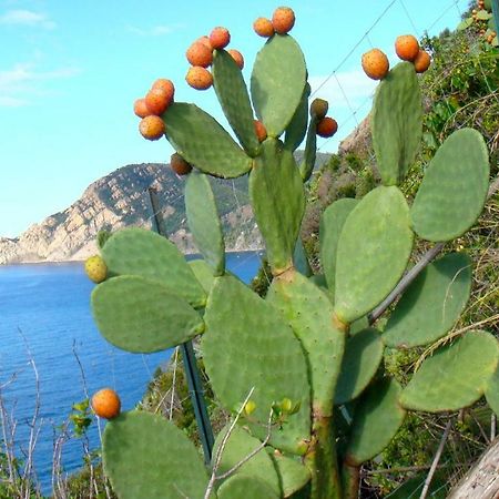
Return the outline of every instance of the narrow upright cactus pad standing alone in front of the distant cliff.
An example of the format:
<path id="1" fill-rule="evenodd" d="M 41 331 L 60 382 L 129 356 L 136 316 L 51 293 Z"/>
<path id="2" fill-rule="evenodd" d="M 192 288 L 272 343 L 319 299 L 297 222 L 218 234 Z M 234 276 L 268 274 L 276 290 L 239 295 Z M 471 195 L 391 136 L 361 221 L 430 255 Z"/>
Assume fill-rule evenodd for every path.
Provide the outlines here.
<path id="1" fill-rule="evenodd" d="M 215 275 L 225 271 L 222 223 L 206 175 L 192 172 L 185 183 L 185 213 L 197 249 Z"/>

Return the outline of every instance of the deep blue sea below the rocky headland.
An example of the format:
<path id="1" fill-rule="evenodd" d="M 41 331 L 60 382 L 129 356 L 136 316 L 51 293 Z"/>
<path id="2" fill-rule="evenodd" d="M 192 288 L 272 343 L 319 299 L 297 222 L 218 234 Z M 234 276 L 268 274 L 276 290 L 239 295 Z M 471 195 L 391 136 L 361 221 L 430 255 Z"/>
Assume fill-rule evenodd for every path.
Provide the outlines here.
<path id="1" fill-rule="evenodd" d="M 227 268 L 245 282 L 259 263 L 258 253 L 227 254 Z M 0 395 L 17 421 L 16 448 L 22 459 L 35 409 L 38 373 L 40 432 L 34 465 L 47 495 L 51 493 L 54 436 L 72 405 L 85 398 L 85 387 L 89 394 L 112 387 L 123 409 L 132 409 L 155 369 L 171 355 L 129 354 L 106 343 L 91 316 L 93 286 L 81 263 L 0 266 Z M 89 437 L 90 448 L 99 447 L 95 421 Z M 65 442 L 63 470 L 80 468 L 82 457 L 82 440 Z"/>

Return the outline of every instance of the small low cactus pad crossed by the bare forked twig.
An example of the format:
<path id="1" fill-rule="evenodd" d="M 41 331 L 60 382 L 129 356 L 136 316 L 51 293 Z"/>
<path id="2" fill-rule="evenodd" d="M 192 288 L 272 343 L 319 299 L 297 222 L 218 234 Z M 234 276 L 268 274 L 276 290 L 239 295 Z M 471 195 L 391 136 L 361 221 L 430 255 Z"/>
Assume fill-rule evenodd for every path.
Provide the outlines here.
<path id="1" fill-rule="evenodd" d="M 215 445 L 213 446 L 213 457 L 217 455 L 222 440 L 227 434 L 227 430 L 228 426 L 223 428 L 217 435 Z M 232 469 L 235 465 L 246 458 L 246 456 L 253 452 L 259 445 L 261 441 L 257 438 L 252 437 L 243 428 L 235 426 L 223 449 L 217 475 L 223 475 Z M 274 467 L 274 462 L 265 449 L 262 449 L 253 456 L 241 468 L 238 468 L 236 472 L 258 478 L 262 481 L 265 481 L 276 496 L 281 493 L 279 478 Z"/>

